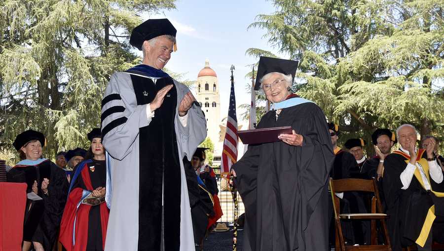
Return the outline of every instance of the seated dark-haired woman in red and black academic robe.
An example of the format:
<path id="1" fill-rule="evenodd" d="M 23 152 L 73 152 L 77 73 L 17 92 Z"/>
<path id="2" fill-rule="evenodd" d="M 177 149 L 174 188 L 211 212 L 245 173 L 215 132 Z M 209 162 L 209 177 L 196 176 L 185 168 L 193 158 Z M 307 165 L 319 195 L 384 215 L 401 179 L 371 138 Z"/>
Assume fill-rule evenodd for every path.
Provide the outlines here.
<path id="1" fill-rule="evenodd" d="M 100 128 L 92 129 L 88 139 L 91 146 L 86 160 L 74 170 L 60 227 L 59 240 L 67 251 L 102 251 L 105 248 L 109 209 L 104 203 L 107 175 Z M 88 197 L 100 199 L 89 203 L 85 200 Z"/>

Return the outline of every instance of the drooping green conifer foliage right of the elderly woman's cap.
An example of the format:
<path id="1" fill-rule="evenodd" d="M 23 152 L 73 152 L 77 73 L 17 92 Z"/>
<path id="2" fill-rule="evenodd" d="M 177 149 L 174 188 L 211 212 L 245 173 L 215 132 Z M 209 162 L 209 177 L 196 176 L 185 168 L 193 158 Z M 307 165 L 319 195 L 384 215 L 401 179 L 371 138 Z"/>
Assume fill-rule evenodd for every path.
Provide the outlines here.
<path id="1" fill-rule="evenodd" d="M 250 27 L 299 61 L 298 94 L 344 131 L 340 142 L 403 123 L 444 139 L 444 2 L 274 0 Z M 250 55 L 272 55 L 250 48 Z M 443 146 L 442 146 L 443 147 Z"/>

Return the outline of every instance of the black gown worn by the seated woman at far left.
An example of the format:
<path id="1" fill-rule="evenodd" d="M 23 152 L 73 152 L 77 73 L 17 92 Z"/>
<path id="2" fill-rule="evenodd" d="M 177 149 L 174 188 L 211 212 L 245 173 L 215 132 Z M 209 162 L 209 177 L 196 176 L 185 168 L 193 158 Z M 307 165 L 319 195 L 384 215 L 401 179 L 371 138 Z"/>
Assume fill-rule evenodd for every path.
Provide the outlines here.
<path id="1" fill-rule="evenodd" d="M 43 194 L 41 182 L 49 179 L 48 195 Z M 36 166 L 17 165 L 7 173 L 8 182 L 28 183 L 27 192 L 32 192 L 34 180 L 37 180 L 38 193 L 43 200 L 27 200 L 23 229 L 23 240 L 41 243 L 44 250 L 52 250 L 57 240 L 68 195 L 68 180 L 65 171 L 57 167 L 49 160 L 45 160 Z"/>

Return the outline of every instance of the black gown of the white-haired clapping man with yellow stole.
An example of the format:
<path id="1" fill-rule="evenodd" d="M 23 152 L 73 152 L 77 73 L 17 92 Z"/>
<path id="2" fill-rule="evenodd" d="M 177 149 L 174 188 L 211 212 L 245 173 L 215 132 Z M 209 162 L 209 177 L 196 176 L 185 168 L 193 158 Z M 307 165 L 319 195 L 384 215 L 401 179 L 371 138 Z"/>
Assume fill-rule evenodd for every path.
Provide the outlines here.
<path id="1" fill-rule="evenodd" d="M 422 150 L 422 149 L 421 149 Z M 427 158 L 426 151 L 421 154 Z M 433 237 L 442 242 L 442 226 L 435 228 L 435 222 L 442 222 L 444 216 L 444 198 L 438 198 L 427 192 L 413 175 L 406 190 L 400 175 L 407 167 L 407 159 L 401 154 L 392 153 L 384 160 L 383 190 L 387 206 L 387 229 L 389 232 L 392 250 L 401 251 L 403 247 L 413 245 L 423 228 L 428 210 L 435 205 L 436 220 L 433 223 Z M 435 190 L 436 182 L 430 178 L 430 184 Z"/>

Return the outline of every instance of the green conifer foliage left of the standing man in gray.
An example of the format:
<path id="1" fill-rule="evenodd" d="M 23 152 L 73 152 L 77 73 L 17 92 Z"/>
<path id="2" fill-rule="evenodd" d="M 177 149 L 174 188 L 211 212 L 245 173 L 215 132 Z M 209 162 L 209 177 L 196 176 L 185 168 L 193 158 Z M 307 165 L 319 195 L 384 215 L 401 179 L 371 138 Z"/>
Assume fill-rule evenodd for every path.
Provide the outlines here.
<path id="1" fill-rule="evenodd" d="M 2 151 L 23 130 L 42 131 L 46 158 L 88 145 L 100 127 L 112 73 L 141 60 L 128 44 L 142 12 L 174 0 L 0 0 L 0 137 Z"/>

